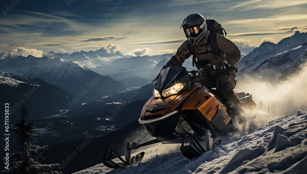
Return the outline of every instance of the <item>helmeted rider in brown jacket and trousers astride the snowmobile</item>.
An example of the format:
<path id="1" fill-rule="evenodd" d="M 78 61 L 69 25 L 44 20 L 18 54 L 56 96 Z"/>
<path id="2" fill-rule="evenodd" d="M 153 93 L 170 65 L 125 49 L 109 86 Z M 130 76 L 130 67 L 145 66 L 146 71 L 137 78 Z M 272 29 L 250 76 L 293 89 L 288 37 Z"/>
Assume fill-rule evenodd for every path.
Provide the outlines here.
<path id="1" fill-rule="evenodd" d="M 185 32 L 187 40 L 178 48 L 176 54 L 167 62 L 163 68 L 168 66 L 182 66 L 185 59 L 192 53 L 196 53 L 196 59 L 193 57 L 197 69 L 201 69 L 207 64 L 215 65 L 219 71 L 203 72 L 200 75 L 200 83 L 205 84 L 209 89 L 216 88 L 216 92 L 227 107 L 229 114 L 234 120 L 244 122 L 245 112 L 233 89 L 236 86 L 236 64 L 241 58 L 241 52 L 238 47 L 223 35 L 211 33 L 208 30 L 206 20 L 198 13 L 193 13 L 185 17 L 181 27 Z M 181 28 L 180 27 L 180 28 Z M 212 37 L 216 37 L 213 38 Z M 211 38 L 211 39 L 210 39 Z M 214 52 L 212 44 L 214 43 L 220 52 Z M 216 48 L 215 48 L 216 49 Z"/>

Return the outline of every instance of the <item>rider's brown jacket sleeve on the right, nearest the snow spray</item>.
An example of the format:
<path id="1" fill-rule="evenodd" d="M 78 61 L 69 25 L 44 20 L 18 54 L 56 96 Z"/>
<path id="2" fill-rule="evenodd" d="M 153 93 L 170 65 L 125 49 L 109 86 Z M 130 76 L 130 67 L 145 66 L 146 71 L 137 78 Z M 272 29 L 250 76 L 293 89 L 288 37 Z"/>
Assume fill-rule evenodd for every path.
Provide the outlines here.
<path id="1" fill-rule="evenodd" d="M 232 65 L 237 64 L 241 58 L 241 52 L 237 45 L 220 34 L 217 35 L 216 40 L 220 50 L 226 54 L 226 59 Z"/>

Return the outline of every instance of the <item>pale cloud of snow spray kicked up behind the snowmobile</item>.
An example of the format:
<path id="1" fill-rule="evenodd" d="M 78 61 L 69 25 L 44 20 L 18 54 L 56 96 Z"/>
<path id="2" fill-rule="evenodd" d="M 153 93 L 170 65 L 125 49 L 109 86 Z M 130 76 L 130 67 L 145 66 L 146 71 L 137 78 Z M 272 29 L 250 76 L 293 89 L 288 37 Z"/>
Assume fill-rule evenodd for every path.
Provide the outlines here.
<path id="1" fill-rule="evenodd" d="M 257 106 L 254 110 L 245 111 L 249 126 L 258 127 L 306 107 L 307 67 L 278 84 L 255 77 L 242 77 L 235 89 L 252 95 Z"/>

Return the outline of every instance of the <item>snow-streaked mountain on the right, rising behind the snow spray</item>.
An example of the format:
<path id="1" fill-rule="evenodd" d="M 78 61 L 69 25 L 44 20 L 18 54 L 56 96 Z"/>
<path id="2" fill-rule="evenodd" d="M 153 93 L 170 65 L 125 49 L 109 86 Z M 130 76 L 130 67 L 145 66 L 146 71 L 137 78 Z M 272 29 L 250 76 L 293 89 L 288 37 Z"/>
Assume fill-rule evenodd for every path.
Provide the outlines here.
<path id="1" fill-rule="evenodd" d="M 239 61 L 238 74 L 257 75 L 274 81 L 299 72 L 307 59 L 306 43 L 307 33 L 298 31 L 277 44 L 263 42 Z"/>

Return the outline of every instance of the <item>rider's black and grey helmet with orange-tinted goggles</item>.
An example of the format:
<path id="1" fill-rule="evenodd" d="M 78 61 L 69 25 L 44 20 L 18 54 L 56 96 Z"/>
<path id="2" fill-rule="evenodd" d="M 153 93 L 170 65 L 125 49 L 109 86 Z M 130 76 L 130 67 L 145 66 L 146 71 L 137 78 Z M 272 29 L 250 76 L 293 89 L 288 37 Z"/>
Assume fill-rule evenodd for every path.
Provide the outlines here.
<path id="1" fill-rule="evenodd" d="M 185 36 L 192 45 L 198 44 L 207 34 L 207 24 L 205 18 L 193 13 L 185 17 L 180 28 L 185 31 Z"/>

